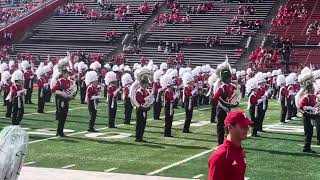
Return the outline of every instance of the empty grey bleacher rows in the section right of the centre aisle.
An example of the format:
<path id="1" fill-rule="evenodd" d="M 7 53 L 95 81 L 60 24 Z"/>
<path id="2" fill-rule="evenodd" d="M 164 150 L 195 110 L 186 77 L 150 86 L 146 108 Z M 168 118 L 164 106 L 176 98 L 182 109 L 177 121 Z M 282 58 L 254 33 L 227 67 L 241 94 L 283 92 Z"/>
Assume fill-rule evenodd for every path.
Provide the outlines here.
<path id="1" fill-rule="evenodd" d="M 183 8 L 181 9 L 181 16 L 186 16 L 188 6 L 198 6 L 199 4 L 210 1 L 179 1 Z M 147 43 L 163 42 L 184 42 L 185 39 L 191 38 L 192 44 L 205 44 L 208 36 L 218 35 L 221 40 L 221 45 L 238 45 L 242 40 L 242 36 L 225 35 L 225 29 L 233 27 L 238 28 L 237 25 L 231 25 L 230 21 L 234 16 L 238 15 L 239 5 L 252 5 L 256 9 L 253 15 L 238 15 L 239 18 L 245 16 L 247 20 L 264 20 L 269 14 L 273 1 L 263 1 L 263 3 L 222 3 L 211 1 L 214 3 L 213 10 L 209 10 L 206 14 L 190 14 L 191 24 L 168 24 L 160 29 L 150 29 L 148 33 L 150 37 Z M 220 9 L 230 9 L 229 13 L 220 12 Z M 249 34 L 250 30 L 245 30 L 244 33 Z M 255 33 L 256 30 L 253 30 Z"/>

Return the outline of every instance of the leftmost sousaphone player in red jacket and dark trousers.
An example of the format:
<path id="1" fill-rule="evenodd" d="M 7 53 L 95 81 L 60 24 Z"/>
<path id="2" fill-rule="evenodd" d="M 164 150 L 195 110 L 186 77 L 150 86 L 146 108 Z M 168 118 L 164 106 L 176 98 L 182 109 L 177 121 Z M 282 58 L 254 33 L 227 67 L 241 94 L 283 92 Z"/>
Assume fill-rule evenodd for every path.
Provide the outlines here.
<path id="1" fill-rule="evenodd" d="M 63 132 L 65 122 L 68 116 L 69 101 L 72 99 L 68 94 L 69 89 L 72 86 L 72 81 L 69 79 L 69 62 L 60 60 L 58 63 L 58 74 L 52 79 L 51 91 L 56 95 L 56 118 L 58 120 L 58 128 L 56 136 L 65 137 Z"/>

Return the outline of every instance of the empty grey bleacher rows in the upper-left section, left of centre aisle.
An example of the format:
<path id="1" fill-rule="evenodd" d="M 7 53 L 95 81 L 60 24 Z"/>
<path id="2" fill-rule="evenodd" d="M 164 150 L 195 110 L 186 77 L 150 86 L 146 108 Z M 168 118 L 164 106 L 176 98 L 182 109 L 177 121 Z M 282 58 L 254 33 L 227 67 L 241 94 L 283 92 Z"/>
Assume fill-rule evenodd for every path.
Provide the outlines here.
<path id="1" fill-rule="evenodd" d="M 100 11 L 97 3 L 91 0 L 76 1 L 76 3 L 81 2 L 84 2 L 89 10 L 96 9 Z M 138 8 L 143 3 L 142 1 L 113 0 L 111 2 L 114 2 L 114 5 L 129 4 L 133 16 L 127 17 L 125 21 L 97 20 L 96 22 L 87 20 L 86 15 L 76 15 L 74 13 L 52 16 L 34 29 L 35 35 L 30 39 L 33 41 L 107 42 L 105 39 L 106 32 L 115 31 L 119 36 L 122 36 L 132 31 L 130 28 L 134 21 L 141 25 L 151 16 L 151 12 L 147 15 L 138 13 Z M 157 0 L 149 0 L 147 2 L 152 7 Z"/>

